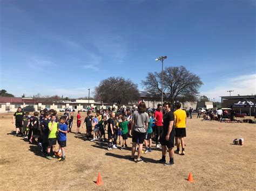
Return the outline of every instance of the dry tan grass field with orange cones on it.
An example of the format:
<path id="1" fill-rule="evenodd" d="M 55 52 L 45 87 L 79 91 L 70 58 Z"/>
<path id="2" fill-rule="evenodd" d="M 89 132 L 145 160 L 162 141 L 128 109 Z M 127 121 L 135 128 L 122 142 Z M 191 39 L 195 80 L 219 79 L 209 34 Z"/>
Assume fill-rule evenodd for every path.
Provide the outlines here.
<path id="1" fill-rule="evenodd" d="M 145 162 L 136 164 L 128 159 L 130 150 L 107 151 L 104 143 L 84 141 L 85 129 L 82 135 L 68 134 L 64 162 L 48 160 L 38 146 L 13 136 L 12 115 L 0 114 L 0 190 L 256 188 L 255 124 L 187 119 L 186 154 L 175 154 L 175 165 L 164 166 L 157 164 L 161 151 L 156 147 L 143 154 Z M 244 146 L 233 145 L 233 139 L 239 137 L 244 137 Z M 131 139 L 128 143 L 131 146 Z M 94 182 L 98 172 L 102 186 Z M 190 172 L 193 183 L 186 180 Z"/>

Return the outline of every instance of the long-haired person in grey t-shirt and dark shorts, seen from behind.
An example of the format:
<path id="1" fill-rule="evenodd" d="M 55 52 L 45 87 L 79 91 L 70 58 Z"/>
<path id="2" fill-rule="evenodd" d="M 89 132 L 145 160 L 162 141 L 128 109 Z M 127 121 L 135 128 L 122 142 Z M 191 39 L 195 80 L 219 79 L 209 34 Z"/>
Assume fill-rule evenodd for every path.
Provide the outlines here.
<path id="1" fill-rule="evenodd" d="M 140 102 L 138 105 L 138 110 L 133 112 L 132 116 L 132 156 L 131 159 L 134 160 L 135 148 L 137 146 L 137 141 L 139 144 L 138 148 L 138 157 L 137 163 L 143 162 L 140 158 L 142 155 L 142 146 L 144 139 L 147 133 L 147 124 L 149 123 L 149 115 L 146 112 L 146 104 L 145 102 Z"/>

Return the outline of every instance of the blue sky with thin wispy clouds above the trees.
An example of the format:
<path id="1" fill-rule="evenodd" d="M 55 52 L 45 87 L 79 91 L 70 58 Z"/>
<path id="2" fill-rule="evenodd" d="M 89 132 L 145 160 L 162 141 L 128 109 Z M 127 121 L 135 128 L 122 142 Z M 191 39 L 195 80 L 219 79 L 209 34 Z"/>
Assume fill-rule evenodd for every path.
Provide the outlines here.
<path id="1" fill-rule="evenodd" d="M 100 80 L 143 89 L 164 64 L 201 77 L 211 99 L 255 94 L 255 1 L 0 1 L 0 88 L 88 95 Z"/>

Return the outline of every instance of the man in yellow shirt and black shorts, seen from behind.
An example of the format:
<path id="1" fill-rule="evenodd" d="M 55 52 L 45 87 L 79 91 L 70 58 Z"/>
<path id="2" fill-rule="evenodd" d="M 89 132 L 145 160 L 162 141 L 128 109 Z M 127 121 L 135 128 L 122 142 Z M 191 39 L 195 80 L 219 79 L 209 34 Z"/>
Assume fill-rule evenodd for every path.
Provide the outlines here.
<path id="1" fill-rule="evenodd" d="M 181 104 L 180 103 L 176 103 L 175 104 L 176 107 L 176 111 L 174 111 L 174 126 L 175 126 L 175 131 L 176 131 L 176 146 L 177 146 L 177 150 L 175 151 L 175 153 L 179 154 L 179 145 L 181 142 L 181 147 L 182 147 L 182 151 L 181 151 L 181 155 L 185 154 L 185 140 L 184 137 L 186 137 L 186 111 L 180 109 L 181 108 Z"/>

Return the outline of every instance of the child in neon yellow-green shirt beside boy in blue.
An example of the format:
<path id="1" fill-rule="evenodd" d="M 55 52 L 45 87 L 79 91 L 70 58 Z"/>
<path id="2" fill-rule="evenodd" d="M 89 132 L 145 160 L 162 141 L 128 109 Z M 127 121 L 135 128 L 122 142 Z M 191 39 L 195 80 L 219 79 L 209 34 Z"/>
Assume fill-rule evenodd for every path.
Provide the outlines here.
<path id="1" fill-rule="evenodd" d="M 52 158 L 55 158 L 55 146 L 57 143 L 57 130 L 58 130 L 58 123 L 56 121 L 56 116 L 51 116 L 51 122 L 48 124 L 49 128 L 49 136 L 48 136 L 48 147 L 47 147 L 47 155 L 46 159 L 51 160 Z M 52 148 L 52 154 L 51 154 L 51 148 Z"/>

